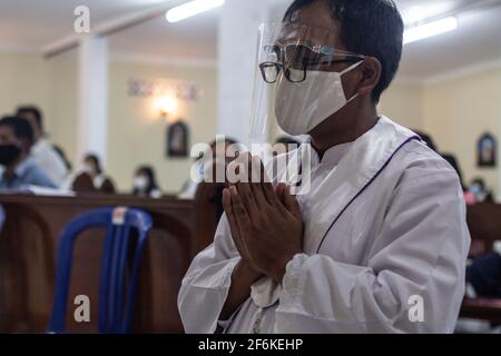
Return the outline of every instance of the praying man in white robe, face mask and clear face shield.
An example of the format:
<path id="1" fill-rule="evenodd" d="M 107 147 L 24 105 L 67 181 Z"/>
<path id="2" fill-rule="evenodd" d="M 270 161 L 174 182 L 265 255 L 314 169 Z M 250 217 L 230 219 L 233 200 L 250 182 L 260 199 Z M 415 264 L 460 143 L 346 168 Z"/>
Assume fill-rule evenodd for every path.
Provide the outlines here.
<path id="1" fill-rule="evenodd" d="M 252 131 L 274 112 L 310 139 L 274 158 L 298 160 L 292 175 L 272 165 L 224 190 L 178 295 L 187 333 L 454 330 L 470 248 L 458 174 L 377 112 L 403 31 L 391 0 L 295 0 L 259 28 Z M 248 159 L 228 170 L 248 177 Z"/>

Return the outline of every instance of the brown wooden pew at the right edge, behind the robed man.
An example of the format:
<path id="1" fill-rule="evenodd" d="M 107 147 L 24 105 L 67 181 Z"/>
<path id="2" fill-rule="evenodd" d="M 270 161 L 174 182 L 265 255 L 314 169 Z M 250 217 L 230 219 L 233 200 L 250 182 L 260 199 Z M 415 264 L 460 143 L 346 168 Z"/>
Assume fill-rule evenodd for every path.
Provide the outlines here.
<path id="1" fill-rule="evenodd" d="M 472 239 L 470 257 L 491 251 L 493 243 L 501 239 L 501 205 L 469 206 L 466 220 Z M 501 323 L 501 299 L 464 299 L 460 317 Z"/>

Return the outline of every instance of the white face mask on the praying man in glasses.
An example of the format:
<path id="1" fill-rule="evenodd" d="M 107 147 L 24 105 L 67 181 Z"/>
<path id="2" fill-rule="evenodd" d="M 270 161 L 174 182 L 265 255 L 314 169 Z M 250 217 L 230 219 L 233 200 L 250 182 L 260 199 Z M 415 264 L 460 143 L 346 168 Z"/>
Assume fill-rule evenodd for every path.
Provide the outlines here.
<path id="1" fill-rule="evenodd" d="M 358 96 L 356 93 L 346 99 L 341 77 L 361 63 L 362 61 L 342 72 L 307 71 L 306 79 L 302 82 L 291 82 L 282 72 L 275 100 L 279 127 L 292 136 L 306 135 L 340 111 Z"/>

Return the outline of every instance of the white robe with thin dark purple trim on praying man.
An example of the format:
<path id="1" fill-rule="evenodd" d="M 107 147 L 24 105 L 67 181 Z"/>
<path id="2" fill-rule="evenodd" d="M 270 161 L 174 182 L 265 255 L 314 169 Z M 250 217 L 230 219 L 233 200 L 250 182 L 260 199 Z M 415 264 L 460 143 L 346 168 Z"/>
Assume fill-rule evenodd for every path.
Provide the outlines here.
<path id="1" fill-rule="evenodd" d="M 315 152 L 310 159 L 312 189 L 298 196 L 304 254 L 288 263 L 282 285 L 262 278 L 230 320 L 218 322 L 240 258 L 223 216 L 183 280 L 185 330 L 452 333 L 470 248 L 452 167 L 384 117 L 322 162 Z"/>

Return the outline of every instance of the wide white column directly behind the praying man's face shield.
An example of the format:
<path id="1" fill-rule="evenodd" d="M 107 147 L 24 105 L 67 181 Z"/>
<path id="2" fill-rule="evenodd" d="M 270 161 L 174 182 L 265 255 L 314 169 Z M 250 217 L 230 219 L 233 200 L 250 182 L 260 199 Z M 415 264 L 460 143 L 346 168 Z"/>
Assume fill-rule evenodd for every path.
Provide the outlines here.
<path id="1" fill-rule="evenodd" d="M 248 140 L 257 30 L 271 0 L 226 0 L 219 19 L 219 107 L 217 132 Z"/>

